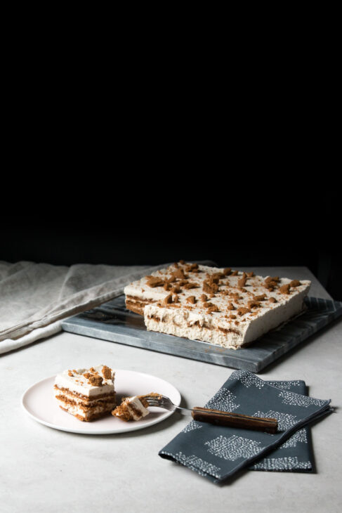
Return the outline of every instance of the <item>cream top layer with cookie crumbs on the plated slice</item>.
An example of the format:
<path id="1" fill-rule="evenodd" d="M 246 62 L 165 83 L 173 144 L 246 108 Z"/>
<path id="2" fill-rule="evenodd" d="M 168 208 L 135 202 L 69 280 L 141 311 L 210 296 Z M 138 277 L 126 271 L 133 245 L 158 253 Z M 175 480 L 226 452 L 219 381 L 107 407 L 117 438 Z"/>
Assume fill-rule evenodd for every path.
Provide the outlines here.
<path id="1" fill-rule="evenodd" d="M 114 393 L 115 372 L 110 369 L 110 376 L 105 365 L 96 365 L 90 369 L 72 369 L 64 370 L 55 377 L 55 386 L 58 389 L 67 389 L 81 396 L 95 398 L 102 394 Z M 102 378 L 100 385 L 91 384 L 87 374 L 98 375 Z"/>

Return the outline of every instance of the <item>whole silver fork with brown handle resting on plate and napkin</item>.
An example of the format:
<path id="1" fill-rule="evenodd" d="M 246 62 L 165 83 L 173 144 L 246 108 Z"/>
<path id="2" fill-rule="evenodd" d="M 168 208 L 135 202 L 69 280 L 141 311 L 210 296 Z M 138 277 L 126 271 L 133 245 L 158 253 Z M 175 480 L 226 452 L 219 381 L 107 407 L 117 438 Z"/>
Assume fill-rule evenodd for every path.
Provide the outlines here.
<path id="1" fill-rule="evenodd" d="M 220 424 L 223 426 L 242 427 L 243 429 L 255 429 L 256 431 L 265 431 L 267 433 L 277 432 L 277 419 L 270 417 L 251 417 L 241 413 L 225 412 L 221 410 L 211 410 L 211 408 L 181 408 L 173 404 L 171 399 L 159 394 L 143 396 L 149 406 L 157 406 L 169 411 L 178 411 L 183 415 L 191 415 L 194 420 L 199 422 L 209 422 L 211 424 Z"/>

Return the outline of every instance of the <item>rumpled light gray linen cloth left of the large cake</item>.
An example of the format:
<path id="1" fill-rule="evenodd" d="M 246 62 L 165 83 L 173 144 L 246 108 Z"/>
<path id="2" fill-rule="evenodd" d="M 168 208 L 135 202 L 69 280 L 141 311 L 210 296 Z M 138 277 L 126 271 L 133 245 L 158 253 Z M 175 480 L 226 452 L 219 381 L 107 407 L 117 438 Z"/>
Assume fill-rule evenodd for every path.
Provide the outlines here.
<path id="1" fill-rule="evenodd" d="M 55 334 L 65 318 L 110 301 L 125 285 L 168 265 L 0 261 L 0 353 Z"/>

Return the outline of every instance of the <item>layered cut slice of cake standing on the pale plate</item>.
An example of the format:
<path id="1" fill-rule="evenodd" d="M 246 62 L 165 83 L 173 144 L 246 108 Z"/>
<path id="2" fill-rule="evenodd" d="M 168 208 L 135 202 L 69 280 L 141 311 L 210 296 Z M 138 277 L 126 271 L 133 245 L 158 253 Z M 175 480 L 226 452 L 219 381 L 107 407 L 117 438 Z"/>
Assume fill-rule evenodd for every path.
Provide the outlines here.
<path id="1" fill-rule="evenodd" d="M 107 365 L 65 370 L 55 377 L 55 398 L 60 408 L 79 420 L 98 419 L 116 405 L 114 375 Z"/>

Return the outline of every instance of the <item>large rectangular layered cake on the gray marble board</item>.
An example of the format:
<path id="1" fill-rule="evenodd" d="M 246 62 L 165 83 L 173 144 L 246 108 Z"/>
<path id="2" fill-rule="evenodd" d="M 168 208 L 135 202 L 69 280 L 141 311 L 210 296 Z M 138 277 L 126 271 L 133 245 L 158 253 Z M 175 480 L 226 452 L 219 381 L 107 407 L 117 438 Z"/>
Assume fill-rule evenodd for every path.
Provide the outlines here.
<path id="1" fill-rule="evenodd" d="M 238 349 L 301 313 L 310 284 L 180 261 L 124 293 L 147 330 Z"/>

